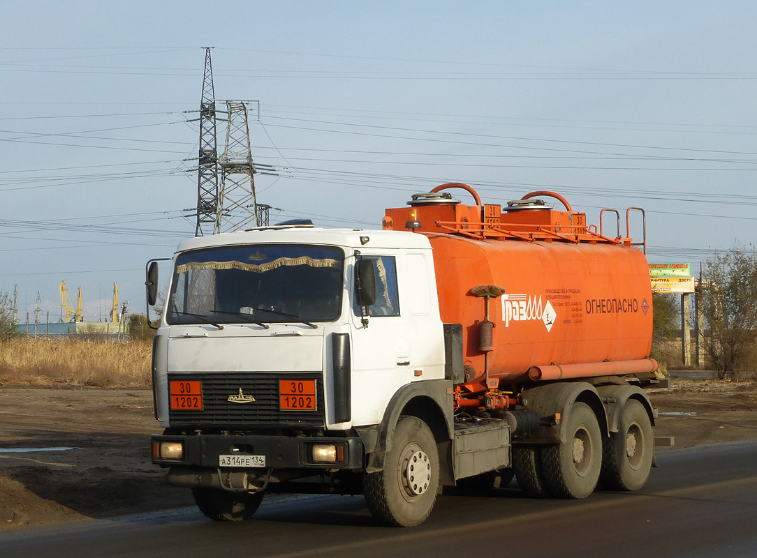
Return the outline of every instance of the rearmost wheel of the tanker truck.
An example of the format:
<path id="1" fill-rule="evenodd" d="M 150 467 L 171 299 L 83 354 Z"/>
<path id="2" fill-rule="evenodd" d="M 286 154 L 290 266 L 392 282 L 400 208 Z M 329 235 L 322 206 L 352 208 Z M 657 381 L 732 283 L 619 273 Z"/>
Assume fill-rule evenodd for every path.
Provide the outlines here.
<path id="1" fill-rule="evenodd" d="M 611 490 L 638 490 L 650 476 L 654 435 L 650 415 L 636 399 L 628 399 L 612 432 L 603 444 L 602 482 Z"/>

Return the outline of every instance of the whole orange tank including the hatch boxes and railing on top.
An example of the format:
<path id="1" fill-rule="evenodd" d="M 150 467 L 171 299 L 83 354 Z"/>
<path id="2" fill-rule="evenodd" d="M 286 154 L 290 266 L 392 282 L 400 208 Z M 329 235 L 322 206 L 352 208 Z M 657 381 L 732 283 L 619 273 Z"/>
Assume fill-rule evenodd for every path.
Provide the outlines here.
<path id="1" fill-rule="evenodd" d="M 414 228 L 431 242 L 441 319 L 463 325 L 466 383 L 481 382 L 487 367 L 490 380 L 507 383 L 528 379 L 529 370 L 537 379 L 534 367 L 609 367 L 650 355 L 646 256 L 631 238 L 603 237 L 562 197 L 546 194 L 558 197 L 566 210 L 536 207 L 508 216 L 500 215 L 500 206 L 444 203 L 387 210 L 385 228 Z M 471 218 L 475 209 L 478 224 Z M 467 219 L 442 220 L 455 212 Z M 410 227 L 403 227 L 406 223 Z M 487 312 L 487 298 L 481 296 L 486 286 L 500 287 L 488 299 L 491 342 L 482 338 L 479 325 Z M 597 370 L 586 375 L 600 375 L 602 365 Z"/>

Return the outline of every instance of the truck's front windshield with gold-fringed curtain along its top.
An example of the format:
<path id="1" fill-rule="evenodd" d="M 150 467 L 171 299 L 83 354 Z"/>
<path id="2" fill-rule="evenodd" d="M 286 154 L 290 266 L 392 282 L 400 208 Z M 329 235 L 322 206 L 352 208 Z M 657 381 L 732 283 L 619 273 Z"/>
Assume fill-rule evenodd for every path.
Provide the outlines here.
<path id="1" fill-rule="evenodd" d="M 334 321 L 344 253 L 329 246 L 254 245 L 179 255 L 169 324 Z"/>

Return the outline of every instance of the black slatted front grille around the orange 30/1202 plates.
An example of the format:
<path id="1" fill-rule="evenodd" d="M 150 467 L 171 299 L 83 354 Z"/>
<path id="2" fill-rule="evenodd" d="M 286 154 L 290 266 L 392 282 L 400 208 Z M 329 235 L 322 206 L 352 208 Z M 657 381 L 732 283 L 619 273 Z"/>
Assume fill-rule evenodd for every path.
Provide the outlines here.
<path id="1" fill-rule="evenodd" d="M 325 425 L 323 410 L 323 380 L 318 372 L 276 373 L 260 372 L 181 372 L 168 374 L 171 380 L 200 380 L 202 383 L 202 411 L 169 411 L 171 426 L 305 426 Z M 282 411 L 279 408 L 279 380 L 316 380 L 315 411 Z M 229 395 L 239 390 L 252 395 L 255 401 L 239 404 L 229 401 Z"/>

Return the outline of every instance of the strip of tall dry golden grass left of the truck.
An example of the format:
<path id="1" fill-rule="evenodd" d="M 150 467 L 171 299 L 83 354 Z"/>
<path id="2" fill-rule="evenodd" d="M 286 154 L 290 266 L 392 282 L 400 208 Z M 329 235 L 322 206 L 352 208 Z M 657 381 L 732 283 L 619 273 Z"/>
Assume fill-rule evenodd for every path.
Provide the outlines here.
<path id="1" fill-rule="evenodd" d="M 150 386 L 151 342 L 11 339 L 0 342 L 0 386 Z"/>

